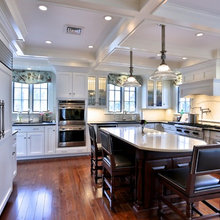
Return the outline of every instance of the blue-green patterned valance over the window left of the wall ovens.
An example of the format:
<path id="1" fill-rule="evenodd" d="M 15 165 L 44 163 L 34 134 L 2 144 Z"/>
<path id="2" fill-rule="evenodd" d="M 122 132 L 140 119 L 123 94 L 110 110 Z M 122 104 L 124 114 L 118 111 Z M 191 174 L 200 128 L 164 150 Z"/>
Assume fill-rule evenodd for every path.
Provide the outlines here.
<path id="1" fill-rule="evenodd" d="M 26 84 L 50 83 L 53 73 L 37 70 L 13 70 L 12 81 Z"/>

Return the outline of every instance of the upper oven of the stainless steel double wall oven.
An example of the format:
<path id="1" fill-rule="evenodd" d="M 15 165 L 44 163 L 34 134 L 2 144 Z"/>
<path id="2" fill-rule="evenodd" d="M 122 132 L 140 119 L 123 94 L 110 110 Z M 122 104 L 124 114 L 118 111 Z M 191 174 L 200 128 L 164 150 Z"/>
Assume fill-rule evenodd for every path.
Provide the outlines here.
<path id="1" fill-rule="evenodd" d="M 85 122 L 85 101 L 82 100 L 60 100 L 59 125 L 72 125 Z"/>

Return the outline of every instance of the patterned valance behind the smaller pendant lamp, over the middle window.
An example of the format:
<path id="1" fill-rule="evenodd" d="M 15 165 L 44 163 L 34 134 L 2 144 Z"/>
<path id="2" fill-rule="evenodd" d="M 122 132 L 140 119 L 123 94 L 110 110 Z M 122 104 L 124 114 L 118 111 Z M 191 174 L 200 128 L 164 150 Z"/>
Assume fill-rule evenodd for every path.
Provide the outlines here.
<path id="1" fill-rule="evenodd" d="M 129 75 L 122 75 L 122 74 L 114 74 L 109 73 L 108 74 L 108 84 L 112 84 L 114 86 L 120 86 L 122 87 L 124 82 L 127 80 Z M 142 85 L 143 79 L 141 76 L 134 76 L 134 78 Z"/>

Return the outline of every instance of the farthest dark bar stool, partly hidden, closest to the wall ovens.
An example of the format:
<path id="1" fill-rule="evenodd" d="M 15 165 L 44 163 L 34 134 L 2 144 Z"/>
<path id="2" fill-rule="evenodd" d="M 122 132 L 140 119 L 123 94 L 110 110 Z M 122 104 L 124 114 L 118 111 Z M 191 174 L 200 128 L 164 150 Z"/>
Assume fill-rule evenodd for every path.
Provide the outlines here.
<path id="1" fill-rule="evenodd" d="M 88 126 L 91 141 L 91 175 L 95 173 L 95 183 L 97 184 L 98 179 L 102 178 L 102 175 L 98 175 L 98 171 L 102 170 L 102 146 L 97 144 L 94 126 L 91 124 Z"/>

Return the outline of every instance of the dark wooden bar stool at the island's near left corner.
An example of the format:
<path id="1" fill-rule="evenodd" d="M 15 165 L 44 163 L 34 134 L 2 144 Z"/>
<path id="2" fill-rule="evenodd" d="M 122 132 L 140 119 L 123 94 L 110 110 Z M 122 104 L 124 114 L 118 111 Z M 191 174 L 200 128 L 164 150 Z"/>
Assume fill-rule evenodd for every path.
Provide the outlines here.
<path id="1" fill-rule="evenodd" d="M 115 146 L 113 147 L 112 138 L 108 133 L 100 131 L 100 137 L 103 150 L 102 192 L 103 196 L 109 201 L 110 208 L 113 209 L 116 190 L 123 188 L 132 190 L 134 163 L 125 156 L 124 151 L 114 149 Z M 121 177 L 128 177 L 130 180 L 129 183 L 127 185 L 121 185 L 117 181 Z"/>

